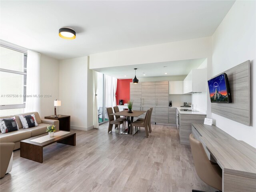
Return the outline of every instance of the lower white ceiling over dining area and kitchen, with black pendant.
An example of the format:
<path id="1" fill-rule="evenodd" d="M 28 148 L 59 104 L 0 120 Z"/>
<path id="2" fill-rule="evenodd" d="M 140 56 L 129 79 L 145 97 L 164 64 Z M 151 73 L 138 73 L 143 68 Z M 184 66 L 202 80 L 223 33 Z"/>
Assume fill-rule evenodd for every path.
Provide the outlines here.
<path id="1" fill-rule="evenodd" d="M 180 76 L 187 75 L 192 69 L 198 68 L 205 59 L 206 58 L 108 67 L 94 70 L 118 79 L 133 79 L 135 75 L 134 68 L 138 68 L 136 70 L 136 77 L 138 79 L 142 77 Z M 145 76 L 143 74 L 145 74 Z"/>

